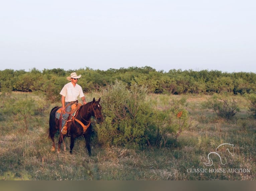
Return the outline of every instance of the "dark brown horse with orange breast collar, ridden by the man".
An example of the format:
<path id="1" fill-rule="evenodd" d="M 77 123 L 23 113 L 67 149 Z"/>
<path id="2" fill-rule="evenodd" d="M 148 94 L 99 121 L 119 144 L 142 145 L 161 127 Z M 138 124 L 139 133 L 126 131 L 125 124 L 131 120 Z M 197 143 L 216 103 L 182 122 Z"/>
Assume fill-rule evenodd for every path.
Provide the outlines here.
<path id="1" fill-rule="evenodd" d="M 92 132 L 92 124 L 91 124 L 91 117 L 94 116 L 97 119 L 98 123 L 103 122 L 103 116 L 101 113 L 101 105 L 100 105 L 100 99 L 98 101 L 93 98 L 93 101 L 86 103 L 85 105 L 82 105 L 78 109 L 78 113 L 75 120 L 67 121 L 67 134 L 62 134 L 60 132 L 59 140 L 58 140 L 58 149 L 57 152 L 60 152 L 60 146 L 62 141 L 64 142 L 65 137 L 70 137 L 70 153 L 72 154 L 72 149 L 74 148 L 74 142 L 75 138 L 79 137 L 81 135 L 84 136 L 86 147 L 89 153 L 89 156 L 91 156 L 91 146 L 90 146 L 90 140 L 91 140 L 91 132 Z M 51 109 L 50 117 L 49 117 L 49 135 L 48 137 L 52 140 L 52 147 L 51 151 L 55 151 L 55 143 L 54 143 L 54 135 L 57 131 L 60 131 L 60 119 L 57 119 L 55 117 L 56 111 L 60 107 L 55 106 Z M 85 128 L 86 127 L 86 128 Z M 85 130 L 84 130 L 85 129 Z M 64 144 L 64 151 L 66 151 L 66 145 Z"/>

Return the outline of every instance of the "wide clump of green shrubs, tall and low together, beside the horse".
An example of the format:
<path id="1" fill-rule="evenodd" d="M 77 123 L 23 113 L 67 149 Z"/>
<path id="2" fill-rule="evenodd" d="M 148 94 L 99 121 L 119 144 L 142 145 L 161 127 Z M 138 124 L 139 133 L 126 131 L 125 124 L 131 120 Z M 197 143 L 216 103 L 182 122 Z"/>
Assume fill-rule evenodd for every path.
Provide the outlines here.
<path id="1" fill-rule="evenodd" d="M 184 100 L 171 100 L 164 109 L 146 99 L 147 88 L 133 84 L 128 89 L 115 81 L 102 90 L 104 123 L 97 128 L 100 144 L 141 148 L 165 146 L 188 126 Z"/>

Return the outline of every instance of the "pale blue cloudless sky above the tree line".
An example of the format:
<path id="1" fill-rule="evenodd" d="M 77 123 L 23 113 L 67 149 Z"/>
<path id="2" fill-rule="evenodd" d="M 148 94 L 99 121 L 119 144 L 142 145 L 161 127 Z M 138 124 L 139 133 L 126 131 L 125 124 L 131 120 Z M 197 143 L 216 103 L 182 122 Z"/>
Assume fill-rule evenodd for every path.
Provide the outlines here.
<path id="1" fill-rule="evenodd" d="M 256 73 L 255 0 L 6 0 L 0 70 Z"/>

